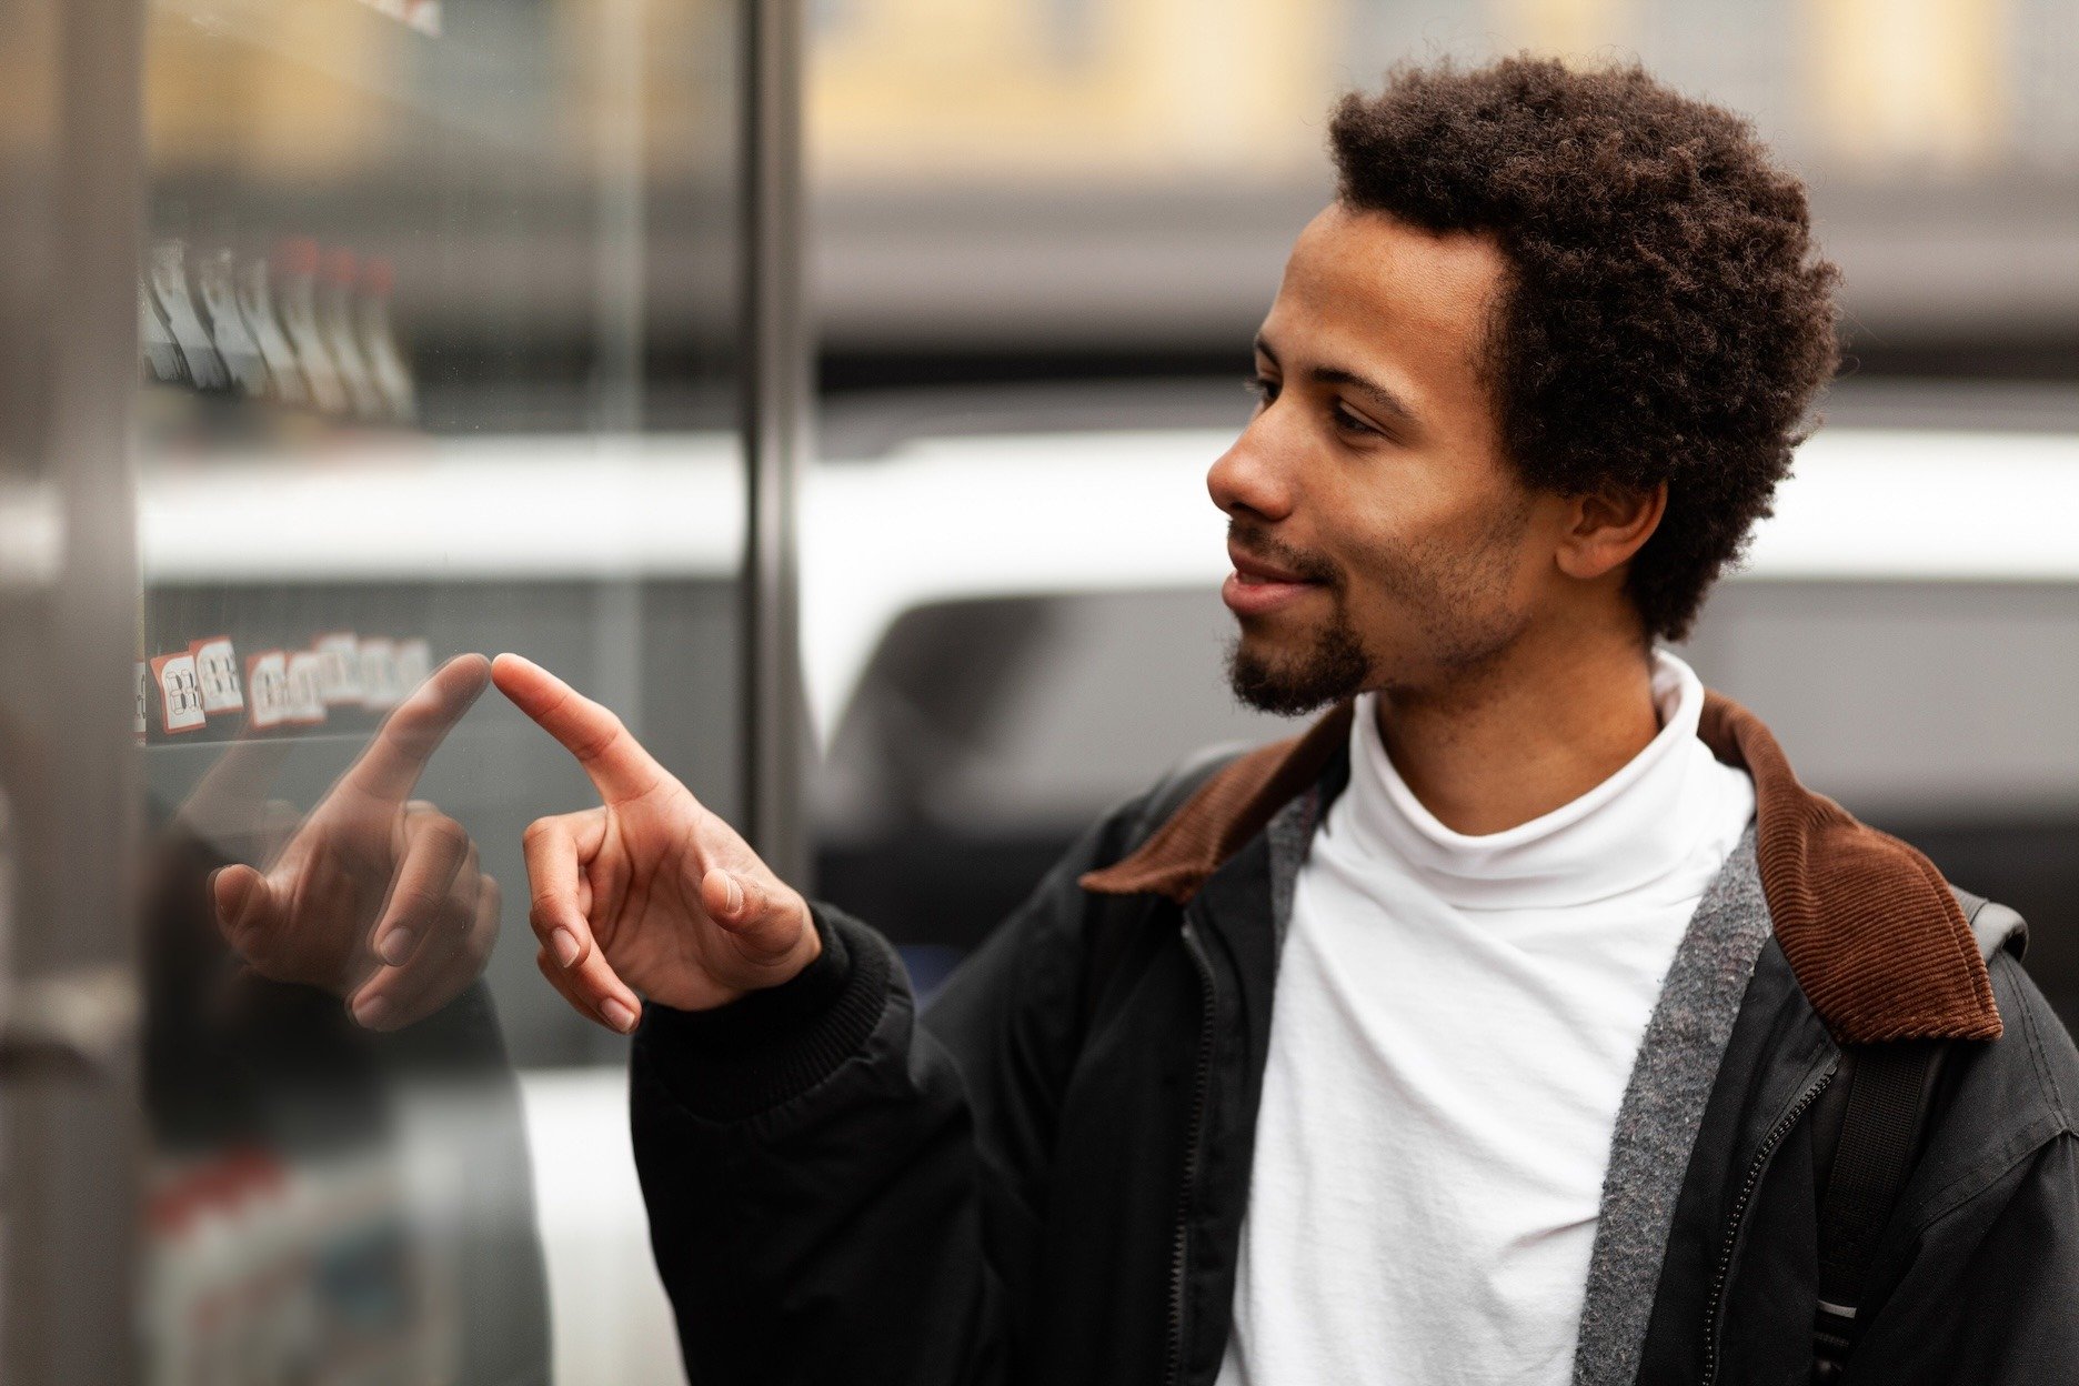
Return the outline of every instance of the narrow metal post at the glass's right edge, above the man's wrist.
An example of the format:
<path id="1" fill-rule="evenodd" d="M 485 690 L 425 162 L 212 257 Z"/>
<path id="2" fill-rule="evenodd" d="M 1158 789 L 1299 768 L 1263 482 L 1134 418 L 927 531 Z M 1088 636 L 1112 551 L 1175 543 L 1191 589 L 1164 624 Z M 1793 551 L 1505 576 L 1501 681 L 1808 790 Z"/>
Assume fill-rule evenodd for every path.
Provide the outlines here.
<path id="1" fill-rule="evenodd" d="M 786 881 L 807 885 L 805 713 L 794 507 L 807 451 L 802 320 L 800 0 L 740 0 L 744 831 Z"/>

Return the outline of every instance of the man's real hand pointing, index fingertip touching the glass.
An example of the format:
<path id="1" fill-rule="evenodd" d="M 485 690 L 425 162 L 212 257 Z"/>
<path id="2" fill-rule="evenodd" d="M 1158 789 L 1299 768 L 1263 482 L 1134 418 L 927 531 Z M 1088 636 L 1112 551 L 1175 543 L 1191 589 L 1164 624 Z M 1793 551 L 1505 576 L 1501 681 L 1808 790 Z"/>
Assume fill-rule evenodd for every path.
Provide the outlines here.
<path id="1" fill-rule="evenodd" d="M 638 993 L 709 1010 L 817 958 L 809 902 L 613 713 L 518 655 L 499 655 L 491 677 L 578 758 L 603 800 L 526 829 L 536 964 L 578 1014 L 628 1033 Z"/>

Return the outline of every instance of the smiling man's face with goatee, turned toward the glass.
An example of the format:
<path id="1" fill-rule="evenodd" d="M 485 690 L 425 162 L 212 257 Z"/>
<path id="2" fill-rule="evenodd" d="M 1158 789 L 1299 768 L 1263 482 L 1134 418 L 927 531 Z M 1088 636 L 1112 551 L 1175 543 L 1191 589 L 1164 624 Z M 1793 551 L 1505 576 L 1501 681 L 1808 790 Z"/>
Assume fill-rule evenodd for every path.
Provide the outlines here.
<path id="1" fill-rule="evenodd" d="M 1245 702 L 1437 688 L 1534 619 L 1559 507 L 1503 457 L 1482 372 L 1505 270 L 1486 237 L 1380 212 L 1299 235 L 1256 339 L 1262 403 L 1206 476 Z"/>

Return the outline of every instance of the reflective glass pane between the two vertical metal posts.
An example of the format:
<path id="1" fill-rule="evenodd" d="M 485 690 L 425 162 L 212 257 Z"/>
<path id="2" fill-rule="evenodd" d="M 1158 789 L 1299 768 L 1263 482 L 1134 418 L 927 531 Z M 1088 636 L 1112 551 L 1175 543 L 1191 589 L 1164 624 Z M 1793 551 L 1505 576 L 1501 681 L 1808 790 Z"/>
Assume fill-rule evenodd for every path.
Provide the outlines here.
<path id="1" fill-rule="evenodd" d="M 484 657 L 736 812 L 734 6 L 148 17 L 152 1380 L 543 1380 L 599 1195 L 524 1093 L 626 1041 L 534 970 L 522 829 L 597 800 Z"/>

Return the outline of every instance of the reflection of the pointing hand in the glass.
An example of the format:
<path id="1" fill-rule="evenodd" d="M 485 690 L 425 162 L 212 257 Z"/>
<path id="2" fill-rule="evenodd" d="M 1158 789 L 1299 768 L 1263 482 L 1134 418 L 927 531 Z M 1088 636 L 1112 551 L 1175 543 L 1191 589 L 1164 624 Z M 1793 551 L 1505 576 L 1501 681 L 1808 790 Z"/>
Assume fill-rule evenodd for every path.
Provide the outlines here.
<path id="1" fill-rule="evenodd" d="M 497 881 L 462 825 L 412 790 L 489 669 L 482 655 L 441 665 L 264 871 L 214 875 L 216 923 L 247 966 L 347 997 L 372 1031 L 412 1024 L 476 979 L 497 939 Z"/>

